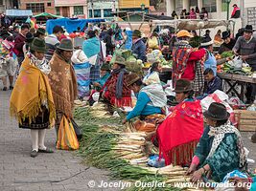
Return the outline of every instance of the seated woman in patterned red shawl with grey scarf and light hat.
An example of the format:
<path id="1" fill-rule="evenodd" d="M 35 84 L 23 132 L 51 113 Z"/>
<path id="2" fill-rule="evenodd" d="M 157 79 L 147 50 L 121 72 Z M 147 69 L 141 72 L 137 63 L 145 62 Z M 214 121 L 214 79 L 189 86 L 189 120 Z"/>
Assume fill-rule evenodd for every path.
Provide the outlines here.
<path id="1" fill-rule="evenodd" d="M 112 66 L 113 72 L 103 87 L 103 96 L 111 105 L 117 107 L 131 106 L 131 91 L 128 88 L 125 58 L 116 56 Z"/>

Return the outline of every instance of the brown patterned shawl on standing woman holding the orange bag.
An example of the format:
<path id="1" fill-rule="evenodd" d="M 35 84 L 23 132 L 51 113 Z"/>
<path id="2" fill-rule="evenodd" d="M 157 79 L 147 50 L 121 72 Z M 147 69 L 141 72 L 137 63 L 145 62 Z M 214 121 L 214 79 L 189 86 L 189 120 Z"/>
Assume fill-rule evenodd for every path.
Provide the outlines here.
<path id="1" fill-rule="evenodd" d="M 56 104 L 56 110 L 67 117 L 72 117 L 74 100 L 78 95 L 77 78 L 74 68 L 64 59 L 54 53 L 50 61 L 51 73 L 49 74 L 50 85 Z"/>

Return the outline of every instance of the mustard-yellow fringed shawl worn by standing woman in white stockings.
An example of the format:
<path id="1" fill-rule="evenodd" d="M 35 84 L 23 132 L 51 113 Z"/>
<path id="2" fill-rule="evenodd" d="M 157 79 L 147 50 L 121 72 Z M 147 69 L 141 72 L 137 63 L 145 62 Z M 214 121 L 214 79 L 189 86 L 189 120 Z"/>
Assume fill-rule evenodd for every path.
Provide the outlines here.
<path id="1" fill-rule="evenodd" d="M 56 117 L 54 98 L 48 77 L 30 63 L 28 56 L 22 63 L 10 102 L 10 114 L 12 117 L 16 117 L 19 123 L 25 118 L 32 123 L 41 112 L 42 105 L 47 106 L 51 123 Z"/>

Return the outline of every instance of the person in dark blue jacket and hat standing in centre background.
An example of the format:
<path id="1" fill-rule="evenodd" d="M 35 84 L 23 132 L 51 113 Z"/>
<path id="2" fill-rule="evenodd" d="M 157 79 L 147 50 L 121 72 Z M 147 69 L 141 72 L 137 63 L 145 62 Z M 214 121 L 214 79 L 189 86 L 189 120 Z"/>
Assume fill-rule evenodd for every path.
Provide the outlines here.
<path id="1" fill-rule="evenodd" d="M 134 30 L 132 33 L 132 53 L 137 59 L 141 59 L 143 62 L 147 62 L 146 56 L 146 45 L 141 38 L 141 32 L 139 30 Z"/>

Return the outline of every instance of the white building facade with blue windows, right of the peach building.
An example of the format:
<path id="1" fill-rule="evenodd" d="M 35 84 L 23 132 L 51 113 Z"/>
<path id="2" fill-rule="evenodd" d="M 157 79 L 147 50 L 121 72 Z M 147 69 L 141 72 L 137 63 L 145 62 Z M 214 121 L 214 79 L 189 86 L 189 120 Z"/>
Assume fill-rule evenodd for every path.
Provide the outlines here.
<path id="1" fill-rule="evenodd" d="M 88 1 L 88 18 L 112 18 L 112 12 L 117 11 L 118 0 Z"/>

